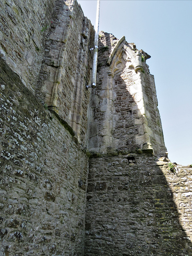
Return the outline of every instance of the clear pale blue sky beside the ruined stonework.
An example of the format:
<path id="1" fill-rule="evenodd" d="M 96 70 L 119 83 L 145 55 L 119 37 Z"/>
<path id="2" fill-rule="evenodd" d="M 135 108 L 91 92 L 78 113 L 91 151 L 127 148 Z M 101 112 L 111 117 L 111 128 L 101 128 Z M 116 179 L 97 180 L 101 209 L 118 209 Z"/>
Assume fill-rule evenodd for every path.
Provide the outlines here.
<path id="1" fill-rule="evenodd" d="M 78 2 L 95 25 L 97 1 Z M 151 56 L 168 157 L 192 164 L 192 1 L 101 0 L 100 30 Z"/>

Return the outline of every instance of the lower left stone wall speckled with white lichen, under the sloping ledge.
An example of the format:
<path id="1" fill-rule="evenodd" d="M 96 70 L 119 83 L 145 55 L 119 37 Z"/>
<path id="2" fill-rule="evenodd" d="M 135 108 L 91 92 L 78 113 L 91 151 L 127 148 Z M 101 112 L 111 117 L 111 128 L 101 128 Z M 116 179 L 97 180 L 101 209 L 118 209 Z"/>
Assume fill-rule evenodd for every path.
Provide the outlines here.
<path id="1" fill-rule="evenodd" d="M 70 127 L 0 66 L 0 255 L 82 255 L 88 158 Z"/>

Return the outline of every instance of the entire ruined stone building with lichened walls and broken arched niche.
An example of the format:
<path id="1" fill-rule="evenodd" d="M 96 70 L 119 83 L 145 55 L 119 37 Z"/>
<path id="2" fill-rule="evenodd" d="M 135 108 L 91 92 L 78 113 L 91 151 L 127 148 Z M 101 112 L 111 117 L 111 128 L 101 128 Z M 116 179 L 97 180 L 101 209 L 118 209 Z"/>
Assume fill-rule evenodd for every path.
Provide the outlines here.
<path id="1" fill-rule="evenodd" d="M 168 165 L 154 77 L 76 0 L 0 2 L 0 256 L 190 256 L 191 168 Z"/>

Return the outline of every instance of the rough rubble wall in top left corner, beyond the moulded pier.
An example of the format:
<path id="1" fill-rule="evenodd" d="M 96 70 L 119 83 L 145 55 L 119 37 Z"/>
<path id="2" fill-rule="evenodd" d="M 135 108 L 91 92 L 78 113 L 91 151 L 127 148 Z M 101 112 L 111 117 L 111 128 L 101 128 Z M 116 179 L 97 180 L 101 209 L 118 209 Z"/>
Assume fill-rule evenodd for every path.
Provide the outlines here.
<path id="1" fill-rule="evenodd" d="M 0 2 L 0 56 L 35 93 L 55 0 Z"/>

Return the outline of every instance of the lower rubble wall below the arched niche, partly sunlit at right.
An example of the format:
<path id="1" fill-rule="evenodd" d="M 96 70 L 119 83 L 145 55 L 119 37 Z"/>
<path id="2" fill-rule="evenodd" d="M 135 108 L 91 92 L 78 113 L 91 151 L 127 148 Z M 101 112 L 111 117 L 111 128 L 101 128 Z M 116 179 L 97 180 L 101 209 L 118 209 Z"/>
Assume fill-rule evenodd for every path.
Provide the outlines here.
<path id="1" fill-rule="evenodd" d="M 90 158 L 84 255 L 190 256 L 191 172 L 150 153 Z"/>

